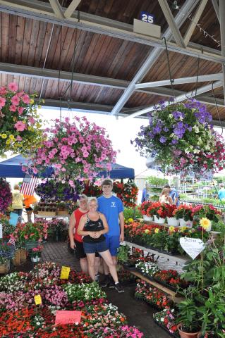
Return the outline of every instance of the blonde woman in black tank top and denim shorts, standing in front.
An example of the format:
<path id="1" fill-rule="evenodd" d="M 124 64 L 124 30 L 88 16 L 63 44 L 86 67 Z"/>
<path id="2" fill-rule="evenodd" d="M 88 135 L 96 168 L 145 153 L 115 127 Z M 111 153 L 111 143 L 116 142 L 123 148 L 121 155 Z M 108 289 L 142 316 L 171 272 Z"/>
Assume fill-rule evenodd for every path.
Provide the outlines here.
<path id="1" fill-rule="evenodd" d="M 117 292 L 124 292 L 118 282 L 116 265 L 109 252 L 104 234 L 109 231 L 107 220 L 102 213 L 97 211 L 96 197 L 90 197 L 88 202 L 89 211 L 80 218 L 78 234 L 83 236 L 83 245 L 87 255 L 88 271 L 92 280 L 95 280 L 95 253 L 99 253 L 108 265 L 111 277 L 114 280 L 114 289 Z"/>

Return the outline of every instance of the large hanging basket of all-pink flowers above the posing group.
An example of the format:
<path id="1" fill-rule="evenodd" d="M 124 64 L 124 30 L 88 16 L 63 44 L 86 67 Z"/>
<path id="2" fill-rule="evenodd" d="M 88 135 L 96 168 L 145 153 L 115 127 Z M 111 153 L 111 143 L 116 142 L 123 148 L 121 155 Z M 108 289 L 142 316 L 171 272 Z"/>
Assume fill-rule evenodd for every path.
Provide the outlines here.
<path id="1" fill-rule="evenodd" d="M 45 130 L 46 141 L 30 158 L 28 167 L 41 173 L 46 166 L 54 167 L 54 175 L 68 181 L 71 187 L 75 180 L 92 181 L 99 171 L 110 170 L 116 161 L 116 151 L 104 128 L 90 123 L 87 118 L 55 120 L 54 127 Z"/>

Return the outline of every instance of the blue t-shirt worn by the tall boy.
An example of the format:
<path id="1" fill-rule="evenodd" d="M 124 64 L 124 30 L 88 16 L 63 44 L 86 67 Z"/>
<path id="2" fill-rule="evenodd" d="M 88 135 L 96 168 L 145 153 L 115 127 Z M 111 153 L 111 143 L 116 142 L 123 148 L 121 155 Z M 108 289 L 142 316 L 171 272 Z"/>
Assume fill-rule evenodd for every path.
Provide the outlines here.
<path id="1" fill-rule="evenodd" d="M 106 216 L 109 225 L 109 232 L 106 235 L 119 236 L 121 231 L 118 223 L 118 214 L 123 211 L 121 199 L 118 199 L 116 196 L 111 196 L 109 199 L 101 196 L 97 201 L 99 204 L 98 211 Z"/>

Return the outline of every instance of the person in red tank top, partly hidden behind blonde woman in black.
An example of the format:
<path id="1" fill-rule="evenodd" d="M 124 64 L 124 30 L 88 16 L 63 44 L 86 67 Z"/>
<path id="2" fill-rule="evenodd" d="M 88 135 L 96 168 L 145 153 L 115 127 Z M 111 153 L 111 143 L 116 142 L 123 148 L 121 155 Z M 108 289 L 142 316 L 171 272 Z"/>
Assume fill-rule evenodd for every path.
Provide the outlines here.
<path id="1" fill-rule="evenodd" d="M 80 199 L 78 201 L 79 208 L 77 208 L 75 211 L 73 211 L 70 221 L 69 221 L 69 228 L 68 228 L 68 234 L 70 237 L 71 242 L 71 249 L 75 249 L 75 256 L 80 261 L 80 269 L 83 271 L 83 273 L 88 273 L 88 267 L 87 267 L 87 256 L 83 248 L 83 239 L 80 234 L 78 234 L 78 225 L 80 223 L 80 218 L 82 218 L 83 215 L 85 215 L 88 212 L 88 206 L 87 206 L 87 196 L 85 194 L 80 195 Z M 96 255 L 95 259 L 95 265 L 96 265 L 96 271 L 98 270 L 100 263 L 99 255 Z M 96 274 L 97 275 L 97 274 Z"/>

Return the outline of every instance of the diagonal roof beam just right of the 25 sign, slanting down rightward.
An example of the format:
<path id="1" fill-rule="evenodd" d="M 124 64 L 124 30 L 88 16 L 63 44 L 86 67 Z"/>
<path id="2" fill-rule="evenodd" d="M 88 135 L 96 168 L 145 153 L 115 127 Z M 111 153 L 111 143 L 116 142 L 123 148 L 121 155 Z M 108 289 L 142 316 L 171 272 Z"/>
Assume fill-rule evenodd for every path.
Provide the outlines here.
<path id="1" fill-rule="evenodd" d="M 174 39 L 176 43 L 178 44 L 178 46 L 186 48 L 186 44 L 183 41 L 181 32 L 176 25 L 176 21 L 174 20 L 174 15 L 171 13 L 167 0 L 158 0 L 158 1 L 159 1 L 159 5 L 162 8 L 164 16 L 166 18 L 166 21 L 171 29 L 171 32 L 174 35 Z"/>

